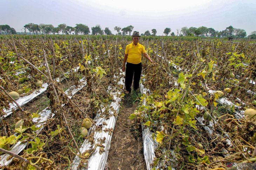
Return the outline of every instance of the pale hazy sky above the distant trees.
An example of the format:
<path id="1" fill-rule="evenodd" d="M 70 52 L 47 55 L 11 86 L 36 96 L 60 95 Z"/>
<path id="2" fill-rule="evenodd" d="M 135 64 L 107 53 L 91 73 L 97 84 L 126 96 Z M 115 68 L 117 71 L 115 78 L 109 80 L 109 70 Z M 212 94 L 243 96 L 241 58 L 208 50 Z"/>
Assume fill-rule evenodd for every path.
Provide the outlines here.
<path id="1" fill-rule="evenodd" d="M 27 23 L 100 24 L 113 34 L 115 26 L 133 25 L 140 34 L 151 29 L 205 26 L 224 30 L 229 25 L 249 35 L 256 31 L 256 0 L 1 0 L 0 24 L 21 32 Z"/>

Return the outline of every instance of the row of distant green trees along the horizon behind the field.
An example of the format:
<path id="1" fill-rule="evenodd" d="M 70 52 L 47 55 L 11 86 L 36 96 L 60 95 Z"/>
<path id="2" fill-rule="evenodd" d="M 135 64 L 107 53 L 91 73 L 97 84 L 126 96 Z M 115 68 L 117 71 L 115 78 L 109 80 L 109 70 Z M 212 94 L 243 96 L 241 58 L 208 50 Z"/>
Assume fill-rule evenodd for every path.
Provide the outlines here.
<path id="1" fill-rule="evenodd" d="M 117 31 L 116 35 L 131 35 L 134 27 L 129 25 L 127 27 L 114 27 L 114 30 Z M 99 24 L 95 25 L 95 27 L 90 28 L 85 24 L 76 24 L 75 27 L 71 27 L 66 25 L 65 23 L 59 24 L 58 27 L 54 27 L 52 24 L 34 24 L 28 23 L 24 25 L 24 32 L 26 34 L 29 31 L 32 34 L 80 34 L 80 35 L 113 35 L 108 27 L 102 29 Z M 247 33 L 244 29 L 234 28 L 233 26 L 229 26 L 222 31 L 217 31 L 213 28 L 207 27 L 182 27 L 181 29 L 176 29 L 175 32 L 171 32 L 170 28 L 165 28 L 163 34 L 168 36 L 200 36 L 200 37 L 230 37 L 233 36 L 235 38 L 245 38 Z M 157 30 L 152 29 L 151 32 L 149 30 L 142 33 L 142 36 L 156 36 Z M 16 34 L 14 28 L 11 28 L 9 25 L 0 25 L 0 35 L 1 34 Z M 251 32 L 248 38 L 255 39 L 256 31 Z"/>

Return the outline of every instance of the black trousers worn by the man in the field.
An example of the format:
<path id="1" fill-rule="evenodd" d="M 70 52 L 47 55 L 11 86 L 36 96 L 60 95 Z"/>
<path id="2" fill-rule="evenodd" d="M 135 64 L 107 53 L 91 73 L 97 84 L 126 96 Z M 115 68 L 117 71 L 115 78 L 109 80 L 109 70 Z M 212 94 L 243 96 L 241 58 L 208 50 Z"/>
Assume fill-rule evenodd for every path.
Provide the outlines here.
<path id="1" fill-rule="evenodd" d="M 127 91 L 131 92 L 132 82 L 134 91 L 139 88 L 141 72 L 141 62 L 139 64 L 126 63 L 125 88 Z"/>

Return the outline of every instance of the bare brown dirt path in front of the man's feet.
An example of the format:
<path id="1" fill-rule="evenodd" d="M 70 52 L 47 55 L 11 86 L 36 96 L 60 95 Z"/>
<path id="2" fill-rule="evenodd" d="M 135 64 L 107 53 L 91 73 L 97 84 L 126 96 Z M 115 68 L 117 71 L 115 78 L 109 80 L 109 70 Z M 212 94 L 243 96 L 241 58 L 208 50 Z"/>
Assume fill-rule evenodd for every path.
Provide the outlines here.
<path id="1" fill-rule="evenodd" d="M 143 154 L 141 127 L 135 129 L 134 121 L 129 119 L 138 103 L 131 104 L 129 95 L 124 103 L 115 125 L 105 170 L 146 170 Z"/>

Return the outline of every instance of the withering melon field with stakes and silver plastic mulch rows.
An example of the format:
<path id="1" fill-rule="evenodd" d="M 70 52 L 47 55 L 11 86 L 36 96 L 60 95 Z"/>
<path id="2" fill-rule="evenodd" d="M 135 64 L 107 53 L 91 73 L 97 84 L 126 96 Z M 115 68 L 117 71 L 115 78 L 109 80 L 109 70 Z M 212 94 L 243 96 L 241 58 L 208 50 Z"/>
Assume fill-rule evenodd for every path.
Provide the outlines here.
<path id="1" fill-rule="evenodd" d="M 256 169 L 256 43 L 129 36 L 0 37 L 1 169 Z"/>

